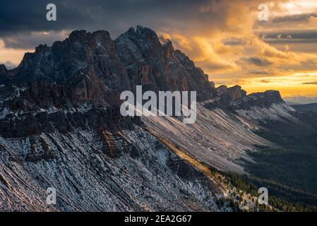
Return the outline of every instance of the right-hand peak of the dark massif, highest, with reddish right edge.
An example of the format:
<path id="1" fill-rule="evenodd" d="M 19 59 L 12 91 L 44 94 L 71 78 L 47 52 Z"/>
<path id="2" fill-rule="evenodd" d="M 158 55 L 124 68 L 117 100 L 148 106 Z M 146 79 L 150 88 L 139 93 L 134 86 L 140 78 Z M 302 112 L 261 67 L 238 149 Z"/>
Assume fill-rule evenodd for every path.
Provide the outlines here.
<path id="1" fill-rule="evenodd" d="M 155 91 L 196 90 L 201 101 L 215 95 L 215 85 L 205 73 L 184 53 L 174 51 L 172 42 L 159 39 L 149 28 L 131 28 L 115 44 L 133 87 L 143 85 L 145 90 Z"/>

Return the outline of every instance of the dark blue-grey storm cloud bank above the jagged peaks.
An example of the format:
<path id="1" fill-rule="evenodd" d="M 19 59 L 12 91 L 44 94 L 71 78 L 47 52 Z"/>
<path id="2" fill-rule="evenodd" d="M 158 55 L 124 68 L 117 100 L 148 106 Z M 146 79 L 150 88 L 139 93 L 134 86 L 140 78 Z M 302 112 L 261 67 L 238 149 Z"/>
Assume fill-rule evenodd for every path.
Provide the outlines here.
<path id="1" fill-rule="evenodd" d="M 57 21 L 46 20 L 49 3 L 56 4 Z M 21 48 L 37 45 L 43 36 L 36 32 L 42 31 L 56 35 L 61 30 L 109 30 L 115 37 L 138 24 L 153 29 L 172 24 L 186 29 L 186 21 L 215 23 L 212 13 L 197 13 L 208 4 L 209 0 L 1 0 L 0 38 L 8 47 Z"/>

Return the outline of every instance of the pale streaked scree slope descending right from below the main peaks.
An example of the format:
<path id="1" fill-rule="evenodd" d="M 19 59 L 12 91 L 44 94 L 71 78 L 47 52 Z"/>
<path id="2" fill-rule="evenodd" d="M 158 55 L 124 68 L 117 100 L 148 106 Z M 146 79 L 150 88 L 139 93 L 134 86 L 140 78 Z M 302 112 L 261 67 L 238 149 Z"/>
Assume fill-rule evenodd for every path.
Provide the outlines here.
<path id="1" fill-rule="evenodd" d="M 253 145 L 273 145 L 257 136 L 252 121 L 222 109 L 206 109 L 198 104 L 195 124 L 183 124 L 172 117 L 143 117 L 147 129 L 155 136 L 174 143 L 189 155 L 213 167 L 243 172 L 239 158 L 248 159 L 246 150 Z"/>

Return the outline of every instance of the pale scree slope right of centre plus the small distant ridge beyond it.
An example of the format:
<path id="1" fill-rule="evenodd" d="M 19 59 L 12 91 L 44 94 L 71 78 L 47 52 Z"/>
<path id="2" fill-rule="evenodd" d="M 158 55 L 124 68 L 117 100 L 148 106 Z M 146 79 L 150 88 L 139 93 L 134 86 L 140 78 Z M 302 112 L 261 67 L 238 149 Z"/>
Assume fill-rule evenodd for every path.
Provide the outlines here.
<path id="1" fill-rule="evenodd" d="M 234 172 L 244 172 L 241 159 L 251 160 L 246 150 L 256 150 L 255 145 L 275 146 L 258 136 L 257 131 L 270 132 L 272 124 L 310 131 L 277 91 L 253 93 L 232 102 L 227 109 L 210 108 L 212 101 L 198 103 L 195 124 L 183 124 L 171 117 L 143 117 L 143 121 L 155 136 L 167 139 L 202 162 Z"/>

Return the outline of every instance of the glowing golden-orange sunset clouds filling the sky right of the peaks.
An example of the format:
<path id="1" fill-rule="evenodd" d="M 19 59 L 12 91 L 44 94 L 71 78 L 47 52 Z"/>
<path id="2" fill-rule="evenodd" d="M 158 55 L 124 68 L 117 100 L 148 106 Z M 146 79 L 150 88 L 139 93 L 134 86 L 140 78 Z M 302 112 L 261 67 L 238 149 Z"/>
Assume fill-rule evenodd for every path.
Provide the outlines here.
<path id="1" fill-rule="evenodd" d="M 199 2 L 191 15 L 181 20 L 161 16 L 157 20 L 164 23 L 154 28 L 216 85 L 238 84 L 249 93 L 275 89 L 283 96 L 317 95 L 316 0 L 267 1 L 265 22 L 258 21 L 259 4 L 263 1 Z M 18 64 L 24 52 L 0 42 L 0 61 Z"/>

